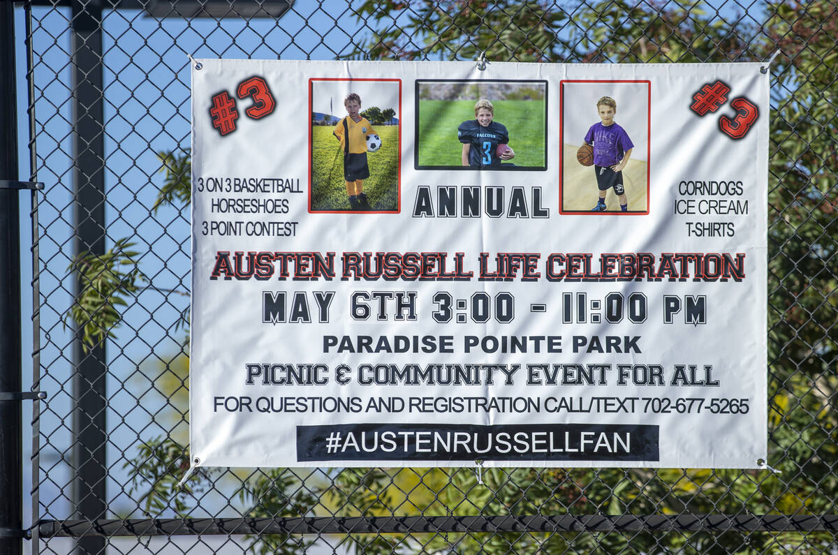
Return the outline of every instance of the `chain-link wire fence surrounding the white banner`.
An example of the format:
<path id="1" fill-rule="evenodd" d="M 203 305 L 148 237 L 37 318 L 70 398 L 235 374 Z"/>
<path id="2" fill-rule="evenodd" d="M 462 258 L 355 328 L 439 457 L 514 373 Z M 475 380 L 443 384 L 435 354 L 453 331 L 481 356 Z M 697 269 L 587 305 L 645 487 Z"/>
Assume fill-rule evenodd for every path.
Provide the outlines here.
<path id="1" fill-rule="evenodd" d="M 33 195 L 33 389 L 49 394 L 34 402 L 33 552 L 838 552 L 835 0 L 37 0 L 17 13 L 31 180 L 46 184 Z M 776 49 L 768 464 L 782 474 L 218 469 L 176 487 L 188 54 L 666 63 Z"/>

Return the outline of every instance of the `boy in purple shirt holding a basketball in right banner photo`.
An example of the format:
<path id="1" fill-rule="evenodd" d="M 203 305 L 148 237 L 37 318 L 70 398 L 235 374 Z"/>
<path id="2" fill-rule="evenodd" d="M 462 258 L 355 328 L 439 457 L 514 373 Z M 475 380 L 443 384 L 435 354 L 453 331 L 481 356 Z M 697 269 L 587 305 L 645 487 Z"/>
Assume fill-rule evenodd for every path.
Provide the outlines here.
<path id="1" fill-rule="evenodd" d="M 597 101 L 597 113 L 602 122 L 594 123 L 584 138 L 584 143 L 593 146 L 593 169 L 597 175 L 599 197 L 592 212 L 606 210 L 605 195 L 608 189 L 614 189 L 620 203 L 620 210 L 629 210 L 629 200 L 623 188 L 623 168 L 629 163 L 634 143 L 629 134 L 614 122 L 617 113 L 617 101 L 610 96 L 603 96 Z"/>

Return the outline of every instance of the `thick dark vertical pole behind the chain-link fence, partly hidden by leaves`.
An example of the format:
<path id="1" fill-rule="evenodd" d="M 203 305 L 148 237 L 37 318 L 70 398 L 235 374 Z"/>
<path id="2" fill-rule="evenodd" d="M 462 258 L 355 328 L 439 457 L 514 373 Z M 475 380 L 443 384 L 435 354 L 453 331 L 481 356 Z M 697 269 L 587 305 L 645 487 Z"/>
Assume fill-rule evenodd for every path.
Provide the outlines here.
<path id="1" fill-rule="evenodd" d="M 72 6 L 70 52 L 73 71 L 75 248 L 105 252 L 105 133 L 102 70 L 102 8 L 98 1 Z M 76 274 L 76 292 L 84 287 Z M 73 345 L 72 500 L 77 518 L 103 518 L 106 506 L 106 358 L 100 343 L 85 350 L 81 330 Z M 101 537 L 83 537 L 79 553 L 104 552 Z"/>

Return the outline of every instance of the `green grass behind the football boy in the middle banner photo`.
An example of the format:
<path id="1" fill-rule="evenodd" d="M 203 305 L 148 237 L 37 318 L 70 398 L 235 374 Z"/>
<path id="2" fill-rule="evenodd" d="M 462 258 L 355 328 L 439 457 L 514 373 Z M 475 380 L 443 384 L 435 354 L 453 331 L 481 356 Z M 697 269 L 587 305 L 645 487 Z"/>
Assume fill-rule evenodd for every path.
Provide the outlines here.
<path id="1" fill-rule="evenodd" d="M 516 166 L 544 167 L 544 101 L 493 101 L 494 118 L 510 132 Z M 420 166 L 459 166 L 463 144 L 457 127 L 474 116 L 473 101 L 419 101 Z"/>

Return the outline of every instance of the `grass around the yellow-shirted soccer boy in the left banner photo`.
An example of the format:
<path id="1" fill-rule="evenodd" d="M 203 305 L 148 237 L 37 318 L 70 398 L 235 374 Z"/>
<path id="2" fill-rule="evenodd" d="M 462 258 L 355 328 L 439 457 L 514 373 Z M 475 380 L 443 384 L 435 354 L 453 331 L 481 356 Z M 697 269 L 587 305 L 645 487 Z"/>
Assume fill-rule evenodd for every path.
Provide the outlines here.
<path id="1" fill-rule="evenodd" d="M 332 134 L 331 126 L 312 127 L 312 205 L 311 210 L 352 210 L 344 184 L 344 153 Z M 399 209 L 399 126 L 375 127 L 381 148 L 367 153 L 370 179 L 364 192 L 367 210 Z"/>

